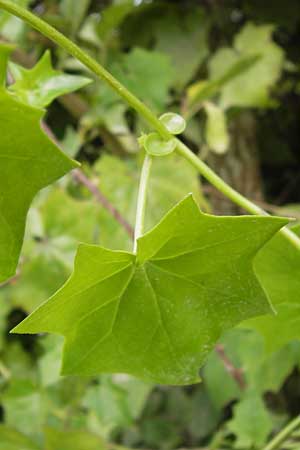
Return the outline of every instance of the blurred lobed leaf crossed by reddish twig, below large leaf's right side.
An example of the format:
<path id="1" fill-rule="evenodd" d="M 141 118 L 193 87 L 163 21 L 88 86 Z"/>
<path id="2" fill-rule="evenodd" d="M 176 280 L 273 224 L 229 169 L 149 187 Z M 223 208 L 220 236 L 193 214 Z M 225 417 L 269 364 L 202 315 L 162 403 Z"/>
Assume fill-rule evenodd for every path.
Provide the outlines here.
<path id="1" fill-rule="evenodd" d="M 230 330 L 223 336 L 221 345 L 234 367 L 243 370 L 246 389 L 259 395 L 277 392 L 300 361 L 299 342 L 290 342 L 278 352 L 269 354 L 265 352 L 262 336 L 255 330 Z M 209 355 L 202 376 L 218 410 L 242 396 L 243 391 L 216 351 Z"/>

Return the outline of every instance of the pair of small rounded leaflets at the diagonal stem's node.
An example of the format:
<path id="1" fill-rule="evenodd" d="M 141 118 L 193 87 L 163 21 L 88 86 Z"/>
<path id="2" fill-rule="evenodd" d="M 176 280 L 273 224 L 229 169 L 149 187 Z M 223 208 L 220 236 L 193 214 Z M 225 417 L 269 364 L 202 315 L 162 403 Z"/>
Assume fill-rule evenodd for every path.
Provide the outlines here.
<path id="1" fill-rule="evenodd" d="M 169 133 L 180 134 L 185 129 L 185 120 L 179 114 L 166 113 L 159 120 L 164 124 Z M 176 149 L 176 139 L 163 140 L 158 133 L 142 135 L 139 139 L 140 146 L 151 156 L 166 156 Z"/>

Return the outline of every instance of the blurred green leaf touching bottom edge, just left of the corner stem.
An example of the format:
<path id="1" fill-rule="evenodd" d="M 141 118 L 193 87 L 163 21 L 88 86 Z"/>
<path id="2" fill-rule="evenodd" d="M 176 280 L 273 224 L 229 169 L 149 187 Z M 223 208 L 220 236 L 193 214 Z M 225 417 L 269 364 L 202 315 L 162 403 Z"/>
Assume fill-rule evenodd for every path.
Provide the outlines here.
<path id="1" fill-rule="evenodd" d="M 228 428 L 237 436 L 235 448 L 262 448 L 272 431 L 272 420 L 260 396 L 250 393 L 234 407 Z"/>

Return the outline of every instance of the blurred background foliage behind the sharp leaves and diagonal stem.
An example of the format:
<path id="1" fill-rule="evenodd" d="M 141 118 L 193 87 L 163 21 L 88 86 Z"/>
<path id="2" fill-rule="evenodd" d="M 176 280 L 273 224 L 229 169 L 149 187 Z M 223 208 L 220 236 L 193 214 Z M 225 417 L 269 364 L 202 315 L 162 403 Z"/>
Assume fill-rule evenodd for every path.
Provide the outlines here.
<path id="1" fill-rule="evenodd" d="M 157 114 L 182 114 L 184 141 L 232 186 L 300 218 L 299 0 L 16 3 L 79 43 Z M 62 378 L 59 337 L 8 334 L 68 278 L 79 242 L 131 248 L 137 137 L 146 125 L 3 12 L 0 36 L 16 44 L 11 89 L 33 105 L 51 103 L 46 132 L 82 163 L 35 199 L 18 273 L 0 288 L 0 449 L 261 449 L 300 413 L 298 341 L 266 353 L 258 332 L 233 330 L 209 356 L 203 383 L 183 388 L 125 375 Z M 188 192 L 207 212 L 243 213 L 170 156 L 154 164 L 147 228 Z M 285 448 L 299 450 L 297 434 Z"/>

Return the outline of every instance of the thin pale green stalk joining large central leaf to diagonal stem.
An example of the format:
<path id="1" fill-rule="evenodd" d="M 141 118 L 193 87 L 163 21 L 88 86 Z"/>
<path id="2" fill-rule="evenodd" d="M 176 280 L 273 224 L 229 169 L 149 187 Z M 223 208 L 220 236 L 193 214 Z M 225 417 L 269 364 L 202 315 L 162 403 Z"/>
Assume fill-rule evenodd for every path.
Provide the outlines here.
<path id="1" fill-rule="evenodd" d="M 152 157 L 150 155 L 146 154 L 144 163 L 143 163 L 143 167 L 142 167 L 140 185 L 139 185 L 139 193 L 138 193 L 138 199 L 137 199 L 133 253 L 137 252 L 137 240 L 140 236 L 142 236 L 143 231 L 144 231 L 146 202 L 147 202 L 147 188 L 148 188 L 149 179 L 150 179 L 151 166 L 152 166 Z"/>

